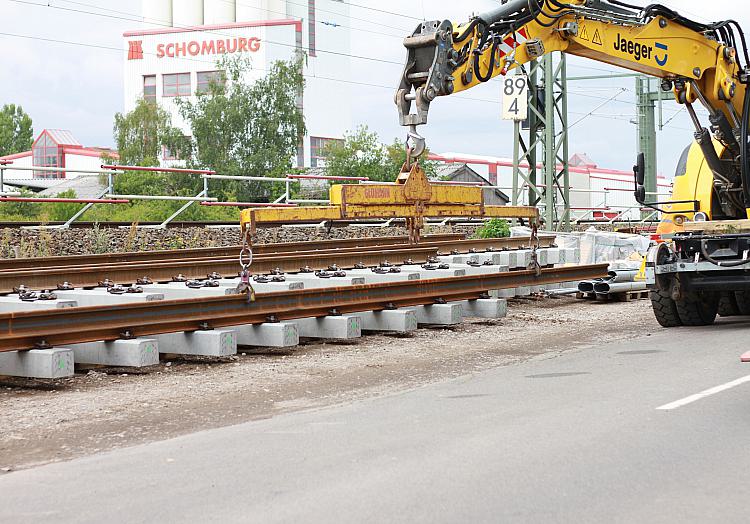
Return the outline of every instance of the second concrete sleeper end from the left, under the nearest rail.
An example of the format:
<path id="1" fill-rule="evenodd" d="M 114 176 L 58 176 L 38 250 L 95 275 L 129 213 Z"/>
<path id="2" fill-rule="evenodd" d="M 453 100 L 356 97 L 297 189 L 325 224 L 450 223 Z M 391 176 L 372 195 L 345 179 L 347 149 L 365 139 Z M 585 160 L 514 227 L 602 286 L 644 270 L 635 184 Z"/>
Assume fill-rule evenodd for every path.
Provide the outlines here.
<path id="1" fill-rule="evenodd" d="M 159 363 L 159 345 L 155 339 L 72 344 L 70 349 L 73 350 L 76 364 L 143 368 Z"/>

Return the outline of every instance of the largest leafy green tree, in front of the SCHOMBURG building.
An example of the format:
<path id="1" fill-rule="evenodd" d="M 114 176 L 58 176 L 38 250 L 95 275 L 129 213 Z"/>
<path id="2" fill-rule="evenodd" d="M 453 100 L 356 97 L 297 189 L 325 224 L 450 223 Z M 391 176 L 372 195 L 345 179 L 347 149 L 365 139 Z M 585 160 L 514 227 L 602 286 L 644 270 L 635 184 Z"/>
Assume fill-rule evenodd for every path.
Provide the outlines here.
<path id="1" fill-rule="evenodd" d="M 230 176 L 283 176 L 306 132 L 299 106 L 301 59 L 275 62 L 254 82 L 247 80 L 246 59 L 225 58 L 220 67 L 226 71 L 225 82 L 211 82 L 196 101 L 178 101 L 193 134 L 194 166 Z M 228 200 L 269 199 L 273 189 L 238 182 L 223 184 L 219 194 Z"/>

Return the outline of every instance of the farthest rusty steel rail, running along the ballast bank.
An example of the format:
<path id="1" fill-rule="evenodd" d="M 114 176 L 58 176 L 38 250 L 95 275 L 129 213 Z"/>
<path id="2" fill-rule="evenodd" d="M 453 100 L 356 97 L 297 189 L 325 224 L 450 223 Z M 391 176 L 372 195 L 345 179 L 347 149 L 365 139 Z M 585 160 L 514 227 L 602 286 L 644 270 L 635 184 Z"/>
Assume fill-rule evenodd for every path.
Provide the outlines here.
<path id="1" fill-rule="evenodd" d="M 433 247 L 444 252 L 458 250 L 462 253 L 468 253 L 471 250 L 486 251 L 489 248 L 495 250 L 502 249 L 519 249 L 526 247 L 529 243 L 528 238 L 496 238 L 496 239 L 464 239 L 462 235 L 434 235 L 424 238 L 415 247 Z M 554 241 L 553 236 L 540 236 L 540 247 L 549 247 Z M 370 248 L 381 247 L 383 249 L 390 247 L 406 246 L 409 240 L 407 237 L 375 237 L 361 239 L 344 239 L 344 240 L 321 240 L 315 242 L 289 242 L 279 244 L 258 244 L 253 247 L 253 252 L 258 256 L 281 253 L 312 253 L 319 251 L 341 250 L 349 248 Z M 216 248 L 198 248 L 198 249 L 179 249 L 168 251 L 143 251 L 134 253 L 111 253 L 104 255 L 71 255 L 63 257 L 46 257 L 46 258 L 10 258 L 0 259 L 1 271 L 17 271 L 21 269 L 34 268 L 53 268 L 66 266 L 84 266 L 94 264 L 113 264 L 123 262 L 153 262 L 167 260 L 181 260 L 194 258 L 221 258 L 236 257 L 240 251 L 240 246 L 216 247 Z"/>

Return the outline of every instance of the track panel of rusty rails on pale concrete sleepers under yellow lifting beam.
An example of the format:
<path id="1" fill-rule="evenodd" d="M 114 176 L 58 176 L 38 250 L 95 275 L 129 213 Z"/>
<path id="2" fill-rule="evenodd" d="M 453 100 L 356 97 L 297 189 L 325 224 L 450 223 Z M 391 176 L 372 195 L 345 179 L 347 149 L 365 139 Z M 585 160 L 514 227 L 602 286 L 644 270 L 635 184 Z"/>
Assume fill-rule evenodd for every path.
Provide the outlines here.
<path id="1" fill-rule="evenodd" d="M 570 265 L 577 253 L 552 236 L 540 238 L 543 269 L 528 270 L 528 244 L 459 235 L 262 244 L 252 298 L 235 291 L 239 246 L 2 260 L 0 375 L 57 378 L 74 362 L 144 367 L 160 353 L 227 356 L 238 345 L 502 318 L 503 297 L 607 273 Z"/>

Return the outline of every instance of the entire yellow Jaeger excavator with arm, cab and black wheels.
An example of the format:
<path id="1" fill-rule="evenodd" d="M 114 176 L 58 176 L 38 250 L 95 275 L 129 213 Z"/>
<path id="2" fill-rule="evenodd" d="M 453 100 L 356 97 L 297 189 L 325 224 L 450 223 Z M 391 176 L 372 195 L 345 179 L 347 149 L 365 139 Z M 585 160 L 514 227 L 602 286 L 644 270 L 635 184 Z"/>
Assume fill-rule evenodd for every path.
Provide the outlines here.
<path id="1" fill-rule="evenodd" d="M 667 240 L 647 256 L 654 313 L 664 327 L 750 314 L 750 57 L 737 22 L 699 23 L 659 4 L 506 0 L 465 23 L 424 22 L 405 46 L 395 98 L 409 128 L 410 161 L 425 150 L 418 126 L 436 98 L 523 70 L 547 53 L 661 78 L 662 89 L 685 106 L 695 135 L 669 202 L 647 200 L 642 154 L 634 168 L 636 200 L 663 213 L 658 233 Z M 708 122 L 696 104 L 708 111 Z"/>

